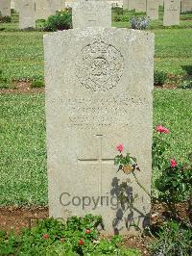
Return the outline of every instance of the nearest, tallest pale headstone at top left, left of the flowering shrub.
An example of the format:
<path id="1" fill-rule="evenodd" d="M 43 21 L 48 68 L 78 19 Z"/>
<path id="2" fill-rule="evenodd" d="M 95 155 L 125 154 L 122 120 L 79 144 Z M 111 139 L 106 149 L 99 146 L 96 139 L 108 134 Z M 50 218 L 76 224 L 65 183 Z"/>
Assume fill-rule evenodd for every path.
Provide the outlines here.
<path id="1" fill-rule="evenodd" d="M 36 28 L 35 0 L 20 0 L 19 29 Z"/>

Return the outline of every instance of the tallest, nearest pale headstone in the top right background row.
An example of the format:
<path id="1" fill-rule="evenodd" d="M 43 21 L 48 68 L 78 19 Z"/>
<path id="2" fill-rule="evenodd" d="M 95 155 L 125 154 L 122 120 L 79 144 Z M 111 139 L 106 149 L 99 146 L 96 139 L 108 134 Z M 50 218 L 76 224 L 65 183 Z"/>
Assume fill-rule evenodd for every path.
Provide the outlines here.
<path id="1" fill-rule="evenodd" d="M 164 0 L 163 26 L 180 25 L 180 0 Z"/>

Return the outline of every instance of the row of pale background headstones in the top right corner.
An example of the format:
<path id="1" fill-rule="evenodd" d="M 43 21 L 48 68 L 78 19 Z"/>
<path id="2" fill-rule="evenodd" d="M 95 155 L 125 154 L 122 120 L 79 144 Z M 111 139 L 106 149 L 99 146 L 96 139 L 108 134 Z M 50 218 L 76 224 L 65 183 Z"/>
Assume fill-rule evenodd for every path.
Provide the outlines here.
<path id="1" fill-rule="evenodd" d="M 181 13 L 192 12 L 192 0 L 124 0 L 126 10 L 147 13 L 151 19 L 158 19 L 158 8 L 164 4 L 163 25 L 180 25 Z"/>

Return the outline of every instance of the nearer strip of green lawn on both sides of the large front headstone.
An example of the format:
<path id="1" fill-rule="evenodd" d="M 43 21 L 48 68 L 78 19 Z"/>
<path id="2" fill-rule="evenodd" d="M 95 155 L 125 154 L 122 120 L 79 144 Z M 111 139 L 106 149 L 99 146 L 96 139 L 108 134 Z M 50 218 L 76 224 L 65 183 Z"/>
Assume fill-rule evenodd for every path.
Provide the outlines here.
<path id="1" fill-rule="evenodd" d="M 191 102 L 191 90 L 155 90 L 154 125 L 170 129 L 167 156 L 181 162 L 191 151 Z M 44 94 L 0 96 L 0 205 L 47 204 L 44 104 Z"/>

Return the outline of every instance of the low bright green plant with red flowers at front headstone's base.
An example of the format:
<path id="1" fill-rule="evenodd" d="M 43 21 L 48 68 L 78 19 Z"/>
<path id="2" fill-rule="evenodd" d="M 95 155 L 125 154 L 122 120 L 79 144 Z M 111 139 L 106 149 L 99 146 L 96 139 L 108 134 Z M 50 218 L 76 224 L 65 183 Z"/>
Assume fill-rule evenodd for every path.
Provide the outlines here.
<path id="1" fill-rule="evenodd" d="M 0 255 L 140 255 L 122 247 L 122 238 L 100 238 L 100 216 L 71 217 L 64 223 L 54 218 L 37 221 L 21 235 L 0 233 Z"/>

